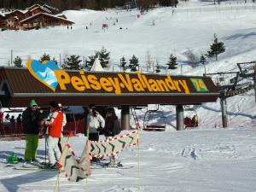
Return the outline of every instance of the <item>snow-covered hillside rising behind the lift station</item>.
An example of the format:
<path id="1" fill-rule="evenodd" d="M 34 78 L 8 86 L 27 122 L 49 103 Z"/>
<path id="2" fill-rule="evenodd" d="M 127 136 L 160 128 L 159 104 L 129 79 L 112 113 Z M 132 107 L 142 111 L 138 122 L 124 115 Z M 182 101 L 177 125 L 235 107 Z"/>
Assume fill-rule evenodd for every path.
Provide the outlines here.
<path id="1" fill-rule="evenodd" d="M 104 46 L 110 51 L 110 71 L 119 71 L 119 59 L 122 56 L 129 60 L 132 55 L 136 55 L 145 73 L 149 54 L 154 64 L 156 60 L 160 62 L 161 73 L 202 75 L 204 67 L 190 67 L 184 53 L 190 50 L 199 58 L 207 52 L 216 33 L 218 40 L 224 42 L 226 51 L 218 56 L 218 61 L 207 63 L 207 73 L 236 72 L 237 62 L 255 60 L 255 11 L 253 3 L 225 2 L 214 6 L 209 2 L 195 1 L 181 3 L 176 9 L 154 9 L 140 18 L 137 18 L 137 9 L 68 10 L 63 14 L 75 22 L 72 30 L 66 26 L 56 26 L 32 31 L 0 32 L 0 62 L 8 65 L 11 50 L 14 57 L 21 56 L 24 65 L 28 57 L 39 59 L 44 53 L 55 57 L 59 63 L 72 54 L 81 55 L 85 60 Z M 108 24 L 106 30 L 102 30 L 104 23 Z M 88 26 L 88 30 L 85 26 Z M 177 56 L 179 66 L 177 70 L 166 72 L 166 61 L 170 54 Z M 153 67 L 149 73 L 152 70 Z M 230 125 L 255 125 L 253 94 L 250 91 L 228 99 Z M 161 110 L 166 115 L 167 126 L 173 127 L 174 108 L 167 106 L 161 107 Z M 143 119 L 144 112 L 138 112 L 141 113 L 140 119 Z M 199 114 L 200 126 L 221 126 L 219 102 L 196 107 L 196 112 Z"/>

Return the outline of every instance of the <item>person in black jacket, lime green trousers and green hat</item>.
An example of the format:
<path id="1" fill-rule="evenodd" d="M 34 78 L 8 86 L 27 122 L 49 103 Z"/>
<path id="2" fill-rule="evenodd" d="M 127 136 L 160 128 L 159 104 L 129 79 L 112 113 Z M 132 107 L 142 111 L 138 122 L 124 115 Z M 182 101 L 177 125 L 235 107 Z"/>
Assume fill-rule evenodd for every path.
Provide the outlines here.
<path id="1" fill-rule="evenodd" d="M 26 162 L 36 160 L 39 139 L 38 134 L 41 127 L 40 116 L 38 104 L 35 100 L 32 100 L 29 107 L 22 113 L 23 132 L 26 136 L 26 149 L 24 155 Z"/>

